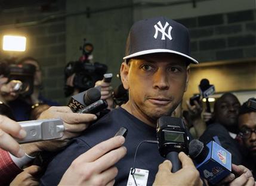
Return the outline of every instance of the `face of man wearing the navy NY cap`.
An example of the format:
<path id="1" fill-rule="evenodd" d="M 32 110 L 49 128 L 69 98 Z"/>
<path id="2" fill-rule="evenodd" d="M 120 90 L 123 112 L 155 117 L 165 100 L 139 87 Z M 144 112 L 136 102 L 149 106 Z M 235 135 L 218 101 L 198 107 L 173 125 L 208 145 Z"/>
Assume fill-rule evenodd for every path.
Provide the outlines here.
<path id="1" fill-rule="evenodd" d="M 189 68 L 184 58 L 166 53 L 148 54 L 122 63 L 121 77 L 129 89 L 132 114 L 145 122 L 170 115 L 186 91 Z"/>

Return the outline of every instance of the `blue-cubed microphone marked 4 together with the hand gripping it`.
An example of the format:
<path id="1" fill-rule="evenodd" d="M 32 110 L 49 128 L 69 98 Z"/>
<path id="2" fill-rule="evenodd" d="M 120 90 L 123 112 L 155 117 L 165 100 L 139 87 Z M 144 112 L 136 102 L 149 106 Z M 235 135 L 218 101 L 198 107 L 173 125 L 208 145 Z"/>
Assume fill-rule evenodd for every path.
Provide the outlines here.
<path id="1" fill-rule="evenodd" d="M 232 164 L 229 151 L 214 141 L 205 146 L 193 139 L 189 144 L 189 155 L 201 176 L 213 185 L 254 185 L 251 171 L 245 166 Z"/>

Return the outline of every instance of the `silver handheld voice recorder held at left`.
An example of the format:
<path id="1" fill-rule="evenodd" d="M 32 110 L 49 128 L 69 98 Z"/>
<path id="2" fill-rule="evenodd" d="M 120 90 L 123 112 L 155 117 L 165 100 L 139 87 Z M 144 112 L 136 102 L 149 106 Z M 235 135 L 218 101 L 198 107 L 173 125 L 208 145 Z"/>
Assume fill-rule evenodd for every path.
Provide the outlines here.
<path id="1" fill-rule="evenodd" d="M 64 123 L 61 119 L 30 120 L 18 123 L 27 132 L 25 138 L 16 139 L 19 144 L 63 137 Z"/>

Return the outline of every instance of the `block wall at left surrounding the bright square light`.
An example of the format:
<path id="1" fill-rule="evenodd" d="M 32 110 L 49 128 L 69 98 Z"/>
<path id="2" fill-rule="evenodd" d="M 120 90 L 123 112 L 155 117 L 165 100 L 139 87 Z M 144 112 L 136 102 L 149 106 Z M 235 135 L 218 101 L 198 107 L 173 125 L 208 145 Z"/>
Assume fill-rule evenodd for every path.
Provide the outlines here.
<path id="1" fill-rule="evenodd" d="M 16 27 L 16 23 L 41 20 L 52 14 L 65 11 L 65 1 L 55 1 L 47 12 L 38 5 L 15 8 L 0 12 L 0 35 L 25 35 L 27 49 L 25 52 L 7 52 L 0 50 L 0 58 L 11 56 L 22 58 L 32 56 L 39 60 L 42 67 L 42 94 L 50 99 L 65 104 L 63 85 L 63 68 L 66 64 L 66 18 L 58 18 L 34 26 Z M 7 26 L 9 25 L 9 26 Z"/>

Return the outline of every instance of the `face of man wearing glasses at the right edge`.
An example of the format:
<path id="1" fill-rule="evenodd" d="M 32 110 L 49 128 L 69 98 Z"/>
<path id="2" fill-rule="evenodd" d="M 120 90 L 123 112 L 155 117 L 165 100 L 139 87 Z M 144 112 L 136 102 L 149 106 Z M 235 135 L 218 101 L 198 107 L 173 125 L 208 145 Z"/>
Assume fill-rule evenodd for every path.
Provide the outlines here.
<path id="1" fill-rule="evenodd" d="M 238 125 L 240 132 L 243 133 L 254 129 L 254 132 L 251 131 L 251 137 L 243 138 L 243 142 L 249 153 L 256 159 L 256 112 L 252 111 L 251 113 L 240 115 Z"/>

